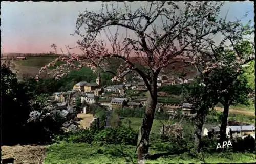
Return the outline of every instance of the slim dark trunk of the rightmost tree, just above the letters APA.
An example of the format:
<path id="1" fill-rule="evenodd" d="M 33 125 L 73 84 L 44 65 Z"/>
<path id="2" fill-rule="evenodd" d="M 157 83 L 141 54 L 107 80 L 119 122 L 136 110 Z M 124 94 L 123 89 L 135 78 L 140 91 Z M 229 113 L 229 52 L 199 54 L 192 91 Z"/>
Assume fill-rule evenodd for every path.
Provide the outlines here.
<path id="1" fill-rule="evenodd" d="M 229 111 L 229 103 L 224 103 L 224 109 L 221 119 L 221 141 L 224 141 L 226 139 L 226 129 L 227 129 L 227 118 L 228 118 L 228 111 Z"/>

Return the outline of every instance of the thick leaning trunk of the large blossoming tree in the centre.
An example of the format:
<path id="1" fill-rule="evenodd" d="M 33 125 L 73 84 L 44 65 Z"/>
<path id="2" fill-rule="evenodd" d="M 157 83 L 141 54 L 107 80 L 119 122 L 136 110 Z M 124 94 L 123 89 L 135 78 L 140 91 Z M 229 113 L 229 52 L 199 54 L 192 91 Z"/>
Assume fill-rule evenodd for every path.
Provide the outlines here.
<path id="1" fill-rule="evenodd" d="M 138 136 L 138 162 L 141 163 L 147 157 L 149 143 L 150 143 L 150 131 L 152 128 L 155 110 L 157 106 L 157 87 L 152 85 L 152 96 L 148 96 L 145 116 L 141 124 Z"/>

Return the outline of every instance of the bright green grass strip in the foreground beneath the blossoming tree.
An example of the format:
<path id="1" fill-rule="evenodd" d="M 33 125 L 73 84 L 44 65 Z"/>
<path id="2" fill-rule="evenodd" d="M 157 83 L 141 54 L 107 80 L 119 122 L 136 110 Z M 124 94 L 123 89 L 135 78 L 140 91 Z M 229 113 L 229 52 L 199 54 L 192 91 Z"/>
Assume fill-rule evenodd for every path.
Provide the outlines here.
<path id="1" fill-rule="evenodd" d="M 150 150 L 154 154 L 154 150 Z M 191 157 L 188 153 L 169 155 L 146 163 L 230 163 L 254 162 L 251 153 L 214 153 Z M 45 163 L 125 163 L 136 162 L 135 146 L 90 145 L 61 142 L 48 146 Z"/>

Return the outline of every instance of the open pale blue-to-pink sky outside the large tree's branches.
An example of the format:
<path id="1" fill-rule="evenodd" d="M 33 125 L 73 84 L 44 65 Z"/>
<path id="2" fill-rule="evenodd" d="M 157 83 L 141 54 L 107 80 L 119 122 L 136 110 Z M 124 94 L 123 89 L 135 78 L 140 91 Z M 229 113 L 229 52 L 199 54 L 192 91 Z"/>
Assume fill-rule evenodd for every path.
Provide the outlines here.
<path id="1" fill-rule="evenodd" d="M 2 53 L 47 53 L 53 51 L 51 44 L 66 52 L 65 45 L 76 45 L 75 31 L 78 12 L 85 9 L 99 11 L 97 2 L 1 2 L 1 52 Z M 146 2 L 141 2 L 145 3 Z M 254 20 L 252 1 L 227 1 L 222 7 L 221 17 L 228 12 L 228 20 L 241 19 L 245 12 L 247 22 Z M 71 52 L 79 53 L 79 50 Z"/>

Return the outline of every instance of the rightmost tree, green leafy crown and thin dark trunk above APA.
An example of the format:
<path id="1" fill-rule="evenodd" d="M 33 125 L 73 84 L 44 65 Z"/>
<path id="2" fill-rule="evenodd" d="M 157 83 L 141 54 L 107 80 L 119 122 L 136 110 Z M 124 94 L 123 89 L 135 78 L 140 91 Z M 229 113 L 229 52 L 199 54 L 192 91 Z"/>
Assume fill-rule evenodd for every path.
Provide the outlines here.
<path id="1" fill-rule="evenodd" d="M 225 140 L 226 137 L 229 106 L 237 103 L 249 105 L 249 97 L 253 96 L 251 94 L 253 90 L 244 74 L 243 67 L 248 66 L 247 63 L 255 58 L 253 55 L 255 53 L 254 45 L 252 46 L 251 42 L 241 40 L 240 38 L 232 38 L 231 35 L 228 38 L 234 50 L 233 53 L 225 53 L 224 58 L 226 59 L 224 60 L 227 63 L 221 72 L 219 72 L 225 77 L 222 78 L 220 98 L 220 102 L 224 105 L 221 123 L 221 140 Z"/>

